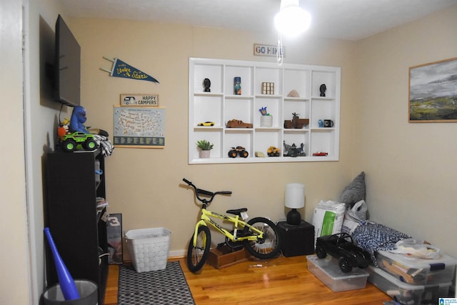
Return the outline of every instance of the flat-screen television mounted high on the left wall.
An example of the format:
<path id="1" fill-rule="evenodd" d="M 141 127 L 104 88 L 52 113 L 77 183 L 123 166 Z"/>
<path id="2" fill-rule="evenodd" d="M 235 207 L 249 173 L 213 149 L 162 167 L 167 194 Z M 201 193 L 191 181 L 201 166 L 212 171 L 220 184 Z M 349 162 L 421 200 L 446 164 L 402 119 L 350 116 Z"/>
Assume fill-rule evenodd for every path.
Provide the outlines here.
<path id="1" fill-rule="evenodd" d="M 56 21 L 54 99 L 68 106 L 81 104 L 81 46 L 61 15 Z"/>

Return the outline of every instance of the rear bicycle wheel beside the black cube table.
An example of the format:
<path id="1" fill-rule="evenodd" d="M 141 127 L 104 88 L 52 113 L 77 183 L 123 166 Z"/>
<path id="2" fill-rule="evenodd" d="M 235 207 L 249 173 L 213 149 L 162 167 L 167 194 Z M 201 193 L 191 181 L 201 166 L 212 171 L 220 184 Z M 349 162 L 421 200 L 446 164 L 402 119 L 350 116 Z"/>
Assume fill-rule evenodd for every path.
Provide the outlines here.
<path id="1" fill-rule="evenodd" d="M 248 224 L 263 232 L 263 238 L 256 241 L 245 241 L 246 250 L 258 259 L 272 259 L 278 254 L 280 244 L 278 229 L 273 221 L 264 217 L 256 217 L 248 221 Z M 246 235 L 258 235 L 252 230 Z"/>

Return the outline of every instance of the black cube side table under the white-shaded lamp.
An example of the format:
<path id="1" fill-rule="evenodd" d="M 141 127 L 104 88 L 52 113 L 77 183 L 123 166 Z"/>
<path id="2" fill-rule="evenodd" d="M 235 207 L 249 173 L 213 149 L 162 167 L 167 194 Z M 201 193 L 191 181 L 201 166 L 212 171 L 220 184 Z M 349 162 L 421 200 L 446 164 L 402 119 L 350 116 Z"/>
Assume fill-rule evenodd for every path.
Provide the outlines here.
<path id="1" fill-rule="evenodd" d="M 301 221 L 298 226 L 279 221 L 279 235 L 281 236 L 281 250 L 283 256 L 298 256 L 314 254 L 314 226 Z"/>

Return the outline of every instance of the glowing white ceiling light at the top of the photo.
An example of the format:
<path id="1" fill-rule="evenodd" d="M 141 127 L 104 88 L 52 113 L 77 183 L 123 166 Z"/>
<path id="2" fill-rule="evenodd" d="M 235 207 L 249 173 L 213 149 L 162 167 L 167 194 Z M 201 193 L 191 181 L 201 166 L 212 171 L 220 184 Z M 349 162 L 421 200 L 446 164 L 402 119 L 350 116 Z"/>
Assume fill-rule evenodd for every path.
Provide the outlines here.
<path id="1" fill-rule="evenodd" d="M 311 15 L 298 5 L 298 0 L 281 0 L 274 25 L 280 34 L 296 37 L 309 28 Z"/>

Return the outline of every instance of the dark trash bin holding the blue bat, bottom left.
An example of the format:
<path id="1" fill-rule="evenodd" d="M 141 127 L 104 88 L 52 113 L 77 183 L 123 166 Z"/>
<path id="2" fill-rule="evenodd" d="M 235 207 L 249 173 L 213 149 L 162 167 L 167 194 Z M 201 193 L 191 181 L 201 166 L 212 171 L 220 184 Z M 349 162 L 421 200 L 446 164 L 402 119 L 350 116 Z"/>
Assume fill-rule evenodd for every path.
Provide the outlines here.
<path id="1" fill-rule="evenodd" d="M 60 285 L 49 287 L 43 294 L 44 305 L 97 305 L 98 287 L 93 281 L 75 279 L 74 284 L 79 292 L 79 299 L 65 301 Z"/>

